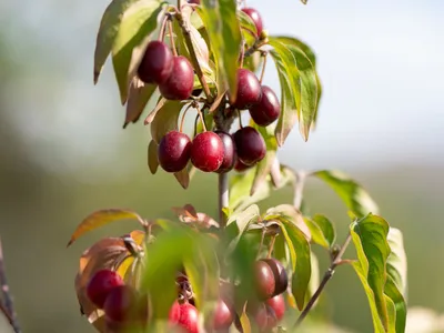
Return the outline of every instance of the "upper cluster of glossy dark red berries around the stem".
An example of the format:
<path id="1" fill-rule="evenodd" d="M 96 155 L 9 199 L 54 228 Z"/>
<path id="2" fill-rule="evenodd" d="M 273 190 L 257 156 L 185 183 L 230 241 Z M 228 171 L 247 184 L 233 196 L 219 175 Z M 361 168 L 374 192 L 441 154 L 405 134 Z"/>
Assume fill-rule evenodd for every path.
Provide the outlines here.
<path id="1" fill-rule="evenodd" d="M 251 8 L 242 10 L 252 18 L 260 36 L 262 19 L 259 12 Z M 173 56 L 162 41 L 148 44 L 138 75 L 145 83 L 158 84 L 160 93 L 168 100 L 188 100 L 193 93 L 192 64 L 183 56 Z M 279 118 L 281 105 L 271 88 L 261 85 L 253 72 L 240 68 L 236 98 L 226 111 L 232 113 L 234 110 L 249 110 L 258 125 L 266 127 Z M 233 135 L 225 131 L 204 131 L 192 141 L 181 131 L 170 131 L 158 147 L 159 164 L 167 172 L 183 170 L 190 160 L 204 172 L 223 173 L 233 168 L 243 171 L 261 161 L 265 153 L 264 139 L 252 127 L 241 127 Z"/>

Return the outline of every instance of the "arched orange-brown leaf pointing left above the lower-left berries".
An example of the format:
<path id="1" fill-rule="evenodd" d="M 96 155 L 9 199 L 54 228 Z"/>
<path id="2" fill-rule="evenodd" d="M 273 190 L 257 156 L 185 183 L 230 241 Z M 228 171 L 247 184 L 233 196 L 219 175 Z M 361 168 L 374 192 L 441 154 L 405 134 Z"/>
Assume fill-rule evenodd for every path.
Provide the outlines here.
<path id="1" fill-rule="evenodd" d="M 85 234 L 87 232 L 90 232 L 102 225 L 119 220 L 137 220 L 142 225 L 144 224 L 143 219 L 138 213 L 131 210 L 121 210 L 121 209 L 100 210 L 90 214 L 79 224 L 74 233 L 71 235 L 71 240 L 68 242 L 68 246 L 71 245 L 78 238 Z"/>

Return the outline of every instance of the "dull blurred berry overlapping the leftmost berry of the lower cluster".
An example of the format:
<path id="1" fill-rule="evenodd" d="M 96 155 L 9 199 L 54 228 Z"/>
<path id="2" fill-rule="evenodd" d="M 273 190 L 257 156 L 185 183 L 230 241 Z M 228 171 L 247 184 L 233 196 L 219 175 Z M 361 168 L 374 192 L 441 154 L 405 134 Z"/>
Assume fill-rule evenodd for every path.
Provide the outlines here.
<path id="1" fill-rule="evenodd" d="M 130 320 L 138 304 L 138 295 L 129 285 L 114 287 L 107 296 L 103 304 L 105 315 L 112 321 L 123 322 Z"/>

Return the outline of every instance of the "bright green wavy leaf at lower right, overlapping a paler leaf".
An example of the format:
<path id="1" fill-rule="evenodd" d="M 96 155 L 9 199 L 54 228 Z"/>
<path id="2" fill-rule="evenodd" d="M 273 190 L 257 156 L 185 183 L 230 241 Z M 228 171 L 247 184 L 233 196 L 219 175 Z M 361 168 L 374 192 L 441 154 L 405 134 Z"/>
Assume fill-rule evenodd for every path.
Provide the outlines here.
<path id="1" fill-rule="evenodd" d="M 389 224 L 384 219 L 369 214 L 353 222 L 350 232 L 357 254 L 357 262 L 353 263 L 353 266 L 364 285 L 374 329 L 376 332 L 384 332 L 384 330 L 391 332 L 392 320 L 384 294 L 385 265 L 390 254 L 386 240 Z"/>

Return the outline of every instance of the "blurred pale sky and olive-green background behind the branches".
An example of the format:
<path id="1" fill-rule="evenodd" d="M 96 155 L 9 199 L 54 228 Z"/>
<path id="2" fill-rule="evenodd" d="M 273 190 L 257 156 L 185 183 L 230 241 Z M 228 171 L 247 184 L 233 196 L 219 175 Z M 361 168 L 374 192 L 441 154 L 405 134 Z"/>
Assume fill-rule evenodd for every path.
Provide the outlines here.
<path id="1" fill-rule="evenodd" d="M 0 1 L 0 235 L 24 332 L 93 332 L 74 294 L 78 259 L 99 238 L 137 224 L 98 230 L 67 250 L 71 232 L 92 211 L 131 208 L 169 218 L 171 206 L 192 202 L 216 215 L 214 175 L 198 174 L 184 191 L 171 175 L 150 174 L 149 130 L 142 123 L 122 130 L 110 62 L 93 85 L 95 33 L 108 3 Z M 444 2 L 248 4 L 262 12 L 270 33 L 301 38 L 319 59 L 319 127 L 307 143 L 293 131 L 281 161 L 341 169 L 361 182 L 404 232 L 408 305 L 444 311 Z M 278 89 L 272 67 L 266 80 Z M 269 203 L 289 200 L 282 192 Z M 309 183 L 306 200 L 339 225 L 341 241 L 349 220 L 340 200 L 317 181 Z M 340 326 L 372 332 L 351 268 L 336 272 L 324 300 Z M 10 332 L 2 317 L 0 332 Z"/>

